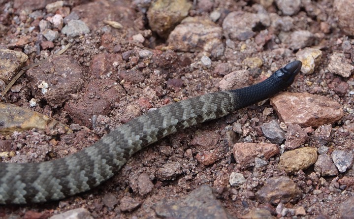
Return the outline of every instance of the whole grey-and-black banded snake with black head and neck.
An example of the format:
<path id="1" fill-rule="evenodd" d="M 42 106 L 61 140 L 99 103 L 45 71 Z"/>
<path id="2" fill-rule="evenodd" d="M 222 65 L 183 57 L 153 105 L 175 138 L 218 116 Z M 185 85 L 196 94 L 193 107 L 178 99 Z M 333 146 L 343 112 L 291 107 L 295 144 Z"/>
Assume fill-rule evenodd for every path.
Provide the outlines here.
<path id="1" fill-rule="evenodd" d="M 205 94 L 146 113 L 80 152 L 39 163 L 0 163 L 0 204 L 62 199 L 97 187 L 135 152 L 166 135 L 266 99 L 289 87 L 300 71 L 294 61 L 267 80 L 242 89 Z"/>

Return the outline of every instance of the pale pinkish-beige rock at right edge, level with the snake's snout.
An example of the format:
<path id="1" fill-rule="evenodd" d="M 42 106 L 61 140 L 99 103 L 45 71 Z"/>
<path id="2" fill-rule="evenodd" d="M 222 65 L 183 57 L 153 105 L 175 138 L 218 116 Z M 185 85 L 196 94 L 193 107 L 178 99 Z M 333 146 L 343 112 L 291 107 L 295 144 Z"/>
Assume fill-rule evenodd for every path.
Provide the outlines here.
<path id="1" fill-rule="evenodd" d="M 349 77 L 354 70 L 351 61 L 346 58 L 344 53 L 333 53 L 329 57 L 328 70 L 333 74 L 338 74 L 342 77 Z"/>

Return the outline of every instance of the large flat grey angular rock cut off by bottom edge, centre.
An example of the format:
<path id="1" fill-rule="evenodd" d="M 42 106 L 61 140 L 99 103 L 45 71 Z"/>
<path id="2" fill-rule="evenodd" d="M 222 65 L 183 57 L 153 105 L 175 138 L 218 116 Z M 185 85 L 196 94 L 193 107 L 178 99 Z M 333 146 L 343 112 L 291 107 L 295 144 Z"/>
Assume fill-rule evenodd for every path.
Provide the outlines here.
<path id="1" fill-rule="evenodd" d="M 173 219 L 233 219 L 223 204 L 215 198 L 212 188 L 200 186 L 184 198 L 160 201 L 153 207 L 158 218 Z"/>

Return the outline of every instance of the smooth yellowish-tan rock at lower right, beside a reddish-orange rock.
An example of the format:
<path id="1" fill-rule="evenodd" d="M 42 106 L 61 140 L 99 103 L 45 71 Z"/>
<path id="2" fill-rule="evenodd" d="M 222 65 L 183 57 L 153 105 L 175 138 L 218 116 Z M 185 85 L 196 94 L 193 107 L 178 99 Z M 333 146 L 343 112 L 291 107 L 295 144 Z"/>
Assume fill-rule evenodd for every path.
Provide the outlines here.
<path id="1" fill-rule="evenodd" d="M 291 174 L 309 168 L 316 160 L 317 148 L 298 148 L 280 156 L 279 169 Z"/>

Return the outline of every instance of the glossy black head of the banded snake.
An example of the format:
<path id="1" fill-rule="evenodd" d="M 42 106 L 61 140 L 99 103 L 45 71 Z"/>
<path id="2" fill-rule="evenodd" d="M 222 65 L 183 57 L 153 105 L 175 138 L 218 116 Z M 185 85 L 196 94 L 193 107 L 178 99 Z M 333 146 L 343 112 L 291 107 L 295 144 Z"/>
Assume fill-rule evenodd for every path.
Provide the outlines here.
<path id="1" fill-rule="evenodd" d="M 277 70 L 275 74 L 284 81 L 286 87 L 289 87 L 294 82 L 295 76 L 300 72 L 301 66 L 300 61 L 293 61 Z"/>

